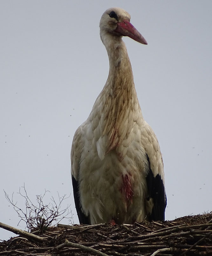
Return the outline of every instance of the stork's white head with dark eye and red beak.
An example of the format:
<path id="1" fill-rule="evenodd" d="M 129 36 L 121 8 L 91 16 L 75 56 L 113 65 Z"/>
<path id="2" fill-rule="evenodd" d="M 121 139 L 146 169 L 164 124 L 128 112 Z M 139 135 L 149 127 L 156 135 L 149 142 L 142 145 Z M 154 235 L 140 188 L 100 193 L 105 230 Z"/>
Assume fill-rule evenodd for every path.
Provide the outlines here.
<path id="1" fill-rule="evenodd" d="M 122 36 L 128 36 L 133 40 L 147 44 L 144 37 L 138 32 L 138 30 L 130 23 L 130 14 L 118 7 L 107 9 L 100 19 L 100 37 L 104 43 L 105 37 L 108 34 L 121 38 Z"/>

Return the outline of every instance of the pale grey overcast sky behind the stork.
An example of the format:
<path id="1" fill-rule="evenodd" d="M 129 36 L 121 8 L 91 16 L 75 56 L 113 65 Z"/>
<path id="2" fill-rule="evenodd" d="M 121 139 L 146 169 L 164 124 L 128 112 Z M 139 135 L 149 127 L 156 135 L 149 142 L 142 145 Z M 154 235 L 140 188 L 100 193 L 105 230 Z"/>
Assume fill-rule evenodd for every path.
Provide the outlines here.
<path id="1" fill-rule="evenodd" d="M 212 210 L 211 0 L 1 0 L 0 222 L 17 226 L 3 189 L 24 208 L 16 192 L 25 183 L 32 201 L 45 189 L 54 198 L 71 193 L 64 208 L 71 203 L 78 223 L 70 150 L 108 76 L 99 20 L 113 6 L 131 14 L 148 42 L 124 38 L 143 116 L 161 147 L 166 219 Z M 10 236 L 0 229 L 0 239 Z"/>

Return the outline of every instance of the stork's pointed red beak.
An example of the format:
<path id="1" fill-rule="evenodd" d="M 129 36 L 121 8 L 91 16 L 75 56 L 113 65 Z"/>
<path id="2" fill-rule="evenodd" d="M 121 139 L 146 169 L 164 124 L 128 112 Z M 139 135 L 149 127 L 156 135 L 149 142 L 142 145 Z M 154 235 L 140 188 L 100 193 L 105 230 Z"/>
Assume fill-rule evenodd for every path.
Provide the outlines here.
<path id="1" fill-rule="evenodd" d="M 117 28 L 115 31 L 119 32 L 122 36 L 128 36 L 141 44 L 147 44 L 147 41 L 145 40 L 145 38 L 138 32 L 138 30 L 128 20 L 123 20 L 122 22 L 118 22 Z"/>

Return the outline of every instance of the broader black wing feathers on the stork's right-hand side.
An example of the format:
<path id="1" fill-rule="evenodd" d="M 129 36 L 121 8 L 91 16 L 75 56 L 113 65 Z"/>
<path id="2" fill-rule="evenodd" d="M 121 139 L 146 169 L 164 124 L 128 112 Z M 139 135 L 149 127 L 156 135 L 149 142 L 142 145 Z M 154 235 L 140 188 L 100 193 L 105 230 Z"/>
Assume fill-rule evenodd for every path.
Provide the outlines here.
<path id="1" fill-rule="evenodd" d="M 147 161 L 149 163 L 149 172 L 147 175 L 147 189 L 148 189 L 148 197 L 153 199 L 154 206 L 152 209 L 152 213 L 148 216 L 149 221 L 152 220 L 165 220 L 165 208 L 167 204 L 165 187 L 163 184 L 163 180 L 161 179 L 161 175 L 157 174 L 155 177 L 151 170 L 149 157 L 147 155 Z"/>

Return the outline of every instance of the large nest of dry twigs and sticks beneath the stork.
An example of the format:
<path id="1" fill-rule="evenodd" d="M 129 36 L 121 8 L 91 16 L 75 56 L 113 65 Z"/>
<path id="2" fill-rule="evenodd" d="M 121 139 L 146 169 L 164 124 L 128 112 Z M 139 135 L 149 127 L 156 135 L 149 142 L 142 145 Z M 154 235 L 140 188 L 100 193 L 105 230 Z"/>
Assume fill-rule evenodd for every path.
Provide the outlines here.
<path id="1" fill-rule="evenodd" d="M 58 224 L 43 234 L 15 230 L 21 235 L 0 243 L 0 256 L 212 255 L 212 212 L 134 225 Z"/>

